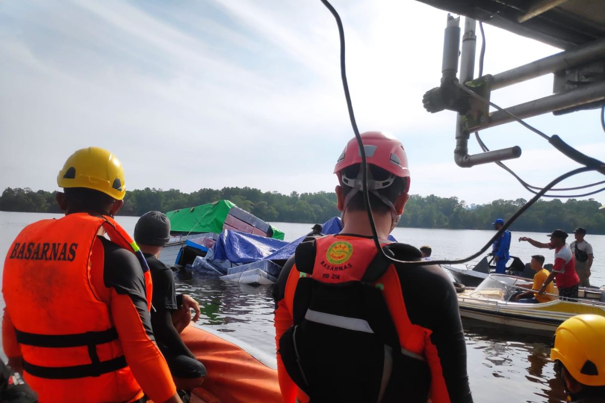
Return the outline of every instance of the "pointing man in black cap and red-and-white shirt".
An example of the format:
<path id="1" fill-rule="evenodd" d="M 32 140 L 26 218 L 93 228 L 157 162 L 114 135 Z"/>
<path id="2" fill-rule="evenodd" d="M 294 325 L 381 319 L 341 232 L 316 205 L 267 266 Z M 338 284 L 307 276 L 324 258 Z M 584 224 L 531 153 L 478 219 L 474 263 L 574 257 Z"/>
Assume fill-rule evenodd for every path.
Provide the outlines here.
<path id="1" fill-rule="evenodd" d="M 525 240 L 536 248 L 548 248 L 555 250 L 555 264 L 552 266 L 552 272 L 546 277 L 542 284 L 538 294 L 543 294 L 546 290 L 546 286 L 552 282 L 552 279 L 557 280 L 557 289 L 559 291 L 559 298 L 561 300 L 574 300 L 578 298 L 578 284 L 580 279 L 578 274 L 575 272 L 575 259 L 572 256 L 569 245 L 565 243 L 567 239 L 567 233 L 563 230 L 554 230 L 551 234 L 551 242 L 542 243 L 537 240 L 533 240 L 529 237 L 522 236 L 519 241 Z"/>

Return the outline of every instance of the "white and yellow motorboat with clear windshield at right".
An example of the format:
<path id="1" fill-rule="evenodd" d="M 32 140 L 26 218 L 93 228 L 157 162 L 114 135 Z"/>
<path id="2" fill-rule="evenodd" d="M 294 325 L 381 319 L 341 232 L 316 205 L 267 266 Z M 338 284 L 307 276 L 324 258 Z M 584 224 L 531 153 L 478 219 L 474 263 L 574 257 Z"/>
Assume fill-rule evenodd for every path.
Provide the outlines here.
<path id="1" fill-rule="evenodd" d="M 517 291 L 527 291 L 520 287 L 522 284 L 531 285 L 532 282 L 505 274 L 489 274 L 477 288 L 458 294 L 460 316 L 551 334 L 574 315 L 605 316 L 603 288 L 580 288 L 577 301 L 560 300 L 558 294 L 553 294 L 550 295 L 552 301 L 531 304 L 512 300 Z"/>

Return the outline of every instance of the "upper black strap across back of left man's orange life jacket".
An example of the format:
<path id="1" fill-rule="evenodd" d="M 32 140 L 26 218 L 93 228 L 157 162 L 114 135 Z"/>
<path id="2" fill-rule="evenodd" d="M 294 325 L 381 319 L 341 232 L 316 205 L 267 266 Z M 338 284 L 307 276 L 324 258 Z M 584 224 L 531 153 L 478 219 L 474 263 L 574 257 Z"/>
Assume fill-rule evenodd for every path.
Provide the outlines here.
<path id="1" fill-rule="evenodd" d="M 22 332 L 21 330 L 15 329 L 15 334 L 19 343 L 36 347 L 94 346 L 117 340 L 117 331 L 115 327 L 111 327 L 111 329 L 103 330 L 101 332 L 86 332 L 69 335 L 43 335 Z"/>

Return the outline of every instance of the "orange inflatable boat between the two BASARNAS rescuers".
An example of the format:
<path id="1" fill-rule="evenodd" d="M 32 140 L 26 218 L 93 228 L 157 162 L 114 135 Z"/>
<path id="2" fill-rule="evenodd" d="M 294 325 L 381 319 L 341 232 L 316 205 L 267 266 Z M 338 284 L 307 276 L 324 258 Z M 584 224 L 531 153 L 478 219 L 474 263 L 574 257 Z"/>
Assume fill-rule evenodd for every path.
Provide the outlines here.
<path id="1" fill-rule="evenodd" d="M 275 356 L 243 341 L 194 324 L 181 333 L 208 375 L 191 403 L 281 403 Z"/>

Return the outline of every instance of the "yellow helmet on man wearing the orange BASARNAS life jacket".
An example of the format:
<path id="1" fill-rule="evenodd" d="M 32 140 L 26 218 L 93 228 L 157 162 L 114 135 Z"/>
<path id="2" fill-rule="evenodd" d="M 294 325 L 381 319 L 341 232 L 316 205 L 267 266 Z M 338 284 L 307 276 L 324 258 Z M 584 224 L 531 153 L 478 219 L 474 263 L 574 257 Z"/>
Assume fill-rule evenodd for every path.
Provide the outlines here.
<path id="1" fill-rule="evenodd" d="M 71 154 L 57 175 L 57 185 L 98 190 L 116 200 L 126 195 L 122 164 L 100 147 L 83 148 Z"/>

